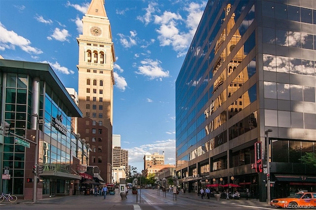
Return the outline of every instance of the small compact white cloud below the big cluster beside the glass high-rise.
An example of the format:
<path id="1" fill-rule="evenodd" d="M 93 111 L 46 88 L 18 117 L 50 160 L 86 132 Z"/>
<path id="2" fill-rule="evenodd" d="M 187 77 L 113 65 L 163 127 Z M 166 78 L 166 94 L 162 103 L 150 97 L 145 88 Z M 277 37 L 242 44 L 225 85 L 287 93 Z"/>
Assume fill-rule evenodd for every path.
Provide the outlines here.
<path id="1" fill-rule="evenodd" d="M 161 80 L 162 77 L 169 77 L 169 71 L 163 71 L 160 63 L 158 60 L 145 59 L 141 61 L 141 66 L 138 66 L 139 71 L 135 73 L 148 76 L 150 79 L 160 78 Z"/>

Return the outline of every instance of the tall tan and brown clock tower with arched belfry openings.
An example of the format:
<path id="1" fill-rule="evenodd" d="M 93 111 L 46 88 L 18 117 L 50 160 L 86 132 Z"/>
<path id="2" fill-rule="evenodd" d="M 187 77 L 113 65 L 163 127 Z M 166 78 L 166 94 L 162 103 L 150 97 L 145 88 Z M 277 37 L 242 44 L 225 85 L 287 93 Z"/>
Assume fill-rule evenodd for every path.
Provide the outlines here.
<path id="1" fill-rule="evenodd" d="M 94 179 L 111 183 L 115 53 L 104 0 L 91 0 L 82 24 L 82 35 L 77 38 L 79 109 L 83 113 L 78 133 L 90 145 L 89 165 L 100 170 L 99 176 L 93 172 Z"/>

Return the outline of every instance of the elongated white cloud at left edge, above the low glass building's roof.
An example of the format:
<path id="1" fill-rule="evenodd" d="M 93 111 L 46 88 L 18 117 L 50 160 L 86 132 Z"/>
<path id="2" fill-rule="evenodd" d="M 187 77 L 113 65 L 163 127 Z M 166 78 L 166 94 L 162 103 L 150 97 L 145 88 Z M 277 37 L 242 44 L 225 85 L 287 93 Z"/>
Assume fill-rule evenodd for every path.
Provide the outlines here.
<path id="1" fill-rule="evenodd" d="M 15 49 L 16 46 L 30 54 L 43 53 L 40 49 L 32 47 L 29 39 L 17 35 L 13 31 L 8 31 L 0 22 L 0 50 Z"/>

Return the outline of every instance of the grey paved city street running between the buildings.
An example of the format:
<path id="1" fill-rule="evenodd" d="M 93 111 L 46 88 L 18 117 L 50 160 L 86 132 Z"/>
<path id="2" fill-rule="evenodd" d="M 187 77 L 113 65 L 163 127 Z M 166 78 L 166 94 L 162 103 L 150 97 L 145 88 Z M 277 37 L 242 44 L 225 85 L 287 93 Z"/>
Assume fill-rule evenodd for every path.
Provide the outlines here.
<path id="1" fill-rule="evenodd" d="M 171 192 L 157 191 L 155 189 L 142 189 L 139 190 L 141 196 L 131 194 L 127 195 L 125 200 L 122 200 L 118 194 L 107 195 L 106 199 L 102 196 L 93 195 L 79 195 L 79 196 L 66 196 L 54 197 L 48 199 L 41 199 L 36 204 L 31 204 L 32 201 L 18 200 L 16 203 L 11 204 L 3 201 L 0 204 L 1 210 L 88 210 L 88 209 L 110 209 L 110 210 L 245 210 L 245 209 L 275 209 L 270 205 L 259 202 L 257 200 L 225 200 L 221 199 L 216 201 L 215 198 L 201 199 L 196 193 L 184 193 L 175 196 Z"/>

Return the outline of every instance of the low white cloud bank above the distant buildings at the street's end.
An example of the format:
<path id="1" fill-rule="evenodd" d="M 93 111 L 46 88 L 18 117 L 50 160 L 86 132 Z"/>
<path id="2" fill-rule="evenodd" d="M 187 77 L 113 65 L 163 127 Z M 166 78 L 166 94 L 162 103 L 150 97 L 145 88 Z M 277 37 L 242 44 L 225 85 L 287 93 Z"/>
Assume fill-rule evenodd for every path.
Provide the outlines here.
<path id="1" fill-rule="evenodd" d="M 151 144 L 144 144 L 139 147 L 127 148 L 128 150 L 128 165 L 134 166 L 134 163 L 142 163 L 142 168 L 137 169 L 139 171 L 143 170 L 144 167 L 144 155 L 147 153 L 154 154 L 158 152 L 162 154 L 164 151 L 164 163 L 165 164 L 175 164 L 175 140 L 160 140 L 154 141 Z M 131 143 L 132 145 L 133 143 Z"/>

